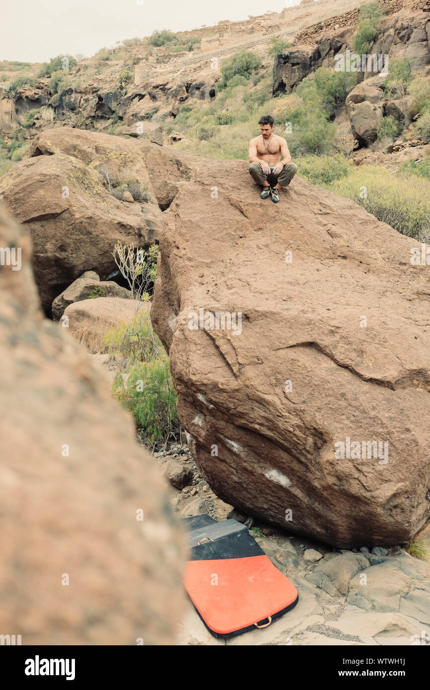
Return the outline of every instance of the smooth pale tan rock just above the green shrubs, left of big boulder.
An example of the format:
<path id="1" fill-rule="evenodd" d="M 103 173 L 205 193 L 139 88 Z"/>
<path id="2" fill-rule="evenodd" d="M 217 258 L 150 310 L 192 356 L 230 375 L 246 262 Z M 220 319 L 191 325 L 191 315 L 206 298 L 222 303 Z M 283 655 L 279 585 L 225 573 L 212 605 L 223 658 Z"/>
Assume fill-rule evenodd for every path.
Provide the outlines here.
<path id="1" fill-rule="evenodd" d="M 149 311 L 148 302 L 120 297 L 95 297 L 69 304 L 61 317 L 61 325 L 92 353 L 104 352 L 106 335 L 113 328 L 133 321 L 140 311 Z"/>

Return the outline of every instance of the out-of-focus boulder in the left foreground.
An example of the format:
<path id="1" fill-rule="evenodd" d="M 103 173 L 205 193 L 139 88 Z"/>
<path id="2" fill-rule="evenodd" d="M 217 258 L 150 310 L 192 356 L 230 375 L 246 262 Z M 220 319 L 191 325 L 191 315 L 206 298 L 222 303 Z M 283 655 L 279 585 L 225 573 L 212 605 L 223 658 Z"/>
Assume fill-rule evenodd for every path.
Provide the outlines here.
<path id="1" fill-rule="evenodd" d="M 21 644 L 174 644 L 184 539 L 101 371 L 43 318 L 0 217 L 0 629 Z"/>

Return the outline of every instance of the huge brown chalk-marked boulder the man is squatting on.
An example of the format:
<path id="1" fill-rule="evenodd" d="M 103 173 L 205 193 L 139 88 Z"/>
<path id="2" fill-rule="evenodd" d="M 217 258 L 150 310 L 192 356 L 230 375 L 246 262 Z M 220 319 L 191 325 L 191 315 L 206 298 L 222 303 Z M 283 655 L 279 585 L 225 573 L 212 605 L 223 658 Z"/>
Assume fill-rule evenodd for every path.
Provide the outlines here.
<path id="1" fill-rule="evenodd" d="M 300 177 L 275 206 L 244 161 L 187 164 L 151 318 L 204 477 L 246 514 L 342 548 L 411 540 L 430 520 L 418 243 Z"/>

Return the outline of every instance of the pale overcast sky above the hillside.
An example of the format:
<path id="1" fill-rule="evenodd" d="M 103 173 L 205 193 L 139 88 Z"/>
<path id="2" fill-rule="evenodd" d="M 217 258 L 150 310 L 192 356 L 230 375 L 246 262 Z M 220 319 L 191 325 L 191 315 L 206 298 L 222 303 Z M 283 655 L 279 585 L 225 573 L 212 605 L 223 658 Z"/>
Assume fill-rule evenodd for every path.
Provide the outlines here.
<path id="1" fill-rule="evenodd" d="M 222 19 L 280 12 L 300 0 L 3 0 L 0 60 L 86 57 L 156 29 L 186 31 Z"/>

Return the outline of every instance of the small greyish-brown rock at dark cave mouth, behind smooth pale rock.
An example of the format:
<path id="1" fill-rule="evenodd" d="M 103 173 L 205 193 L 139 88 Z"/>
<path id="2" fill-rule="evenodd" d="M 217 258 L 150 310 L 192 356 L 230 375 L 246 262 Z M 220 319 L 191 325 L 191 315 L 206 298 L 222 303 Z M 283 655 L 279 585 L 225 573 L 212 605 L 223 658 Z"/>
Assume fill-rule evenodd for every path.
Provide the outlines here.
<path id="1" fill-rule="evenodd" d="M 73 302 L 81 302 L 83 299 L 95 297 L 120 297 L 130 299 L 131 290 L 121 287 L 113 280 L 100 280 L 93 270 L 86 270 L 81 277 L 72 282 L 61 295 L 55 297 L 52 302 L 52 317 L 59 321 L 66 307 Z"/>

